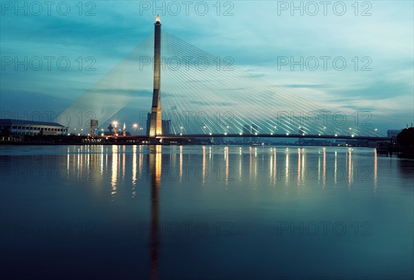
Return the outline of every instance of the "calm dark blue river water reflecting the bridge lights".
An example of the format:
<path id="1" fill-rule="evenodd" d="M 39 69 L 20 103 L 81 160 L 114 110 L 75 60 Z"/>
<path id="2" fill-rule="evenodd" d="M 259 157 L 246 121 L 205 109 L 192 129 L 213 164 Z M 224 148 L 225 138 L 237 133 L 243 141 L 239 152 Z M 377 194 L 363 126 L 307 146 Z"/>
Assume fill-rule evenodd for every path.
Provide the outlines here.
<path id="1" fill-rule="evenodd" d="M 373 149 L 1 147 L 1 279 L 413 279 L 414 162 Z"/>

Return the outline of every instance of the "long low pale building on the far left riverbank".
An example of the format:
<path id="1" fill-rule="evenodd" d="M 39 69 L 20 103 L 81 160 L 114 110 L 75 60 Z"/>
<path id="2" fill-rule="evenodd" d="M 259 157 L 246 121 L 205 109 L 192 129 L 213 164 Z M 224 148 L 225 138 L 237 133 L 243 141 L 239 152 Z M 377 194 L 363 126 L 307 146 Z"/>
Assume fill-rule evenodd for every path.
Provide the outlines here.
<path id="1" fill-rule="evenodd" d="M 63 127 L 56 122 L 37 122 L 34 120 L 15 120 L 10 118 L 0 119 L 0 131 L 8 131 L 18 135 L 67 135 L 68 127 Z"/>

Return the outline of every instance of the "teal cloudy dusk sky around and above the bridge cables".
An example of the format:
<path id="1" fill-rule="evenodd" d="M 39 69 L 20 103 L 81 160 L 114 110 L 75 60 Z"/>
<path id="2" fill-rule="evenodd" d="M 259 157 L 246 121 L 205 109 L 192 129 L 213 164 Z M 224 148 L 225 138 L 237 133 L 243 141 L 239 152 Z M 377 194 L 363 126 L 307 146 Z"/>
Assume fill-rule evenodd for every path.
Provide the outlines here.
<path id="1" fill-rule="evenodd" d="M 0 4 L 1 118 L 56 118 L 152 34 L 159 14 L 168 34 L 326 109 L 369 112 L 382 134 L 413 122 L 413 1 Z M 151 101 L 132 100 L 117 118 L 137 122 Z"/>

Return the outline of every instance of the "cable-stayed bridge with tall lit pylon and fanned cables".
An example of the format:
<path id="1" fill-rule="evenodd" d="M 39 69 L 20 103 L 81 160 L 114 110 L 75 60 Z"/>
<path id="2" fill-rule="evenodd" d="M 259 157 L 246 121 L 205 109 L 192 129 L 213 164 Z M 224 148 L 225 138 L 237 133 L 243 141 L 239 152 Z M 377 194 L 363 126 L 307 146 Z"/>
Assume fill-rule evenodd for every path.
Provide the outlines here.
<path id="1" fill-rule="evenodd" d="M 153 82 L 153 83 L 152 83 Z M 151 94 L 152 92 L 152 94 Z M 152 107 L 150 107 L 152 99 Z M 150 138 L 289 137 L 383 140 L 364 118 L 324 109 L 161 31 L 55 120 L 70 133 L 105 124 L 132 101 L 148 104 Z M 88 118 L 76 118 L 79 113 Z M 138 114 L 138 113 L 137 113 Z M 168 131 L 162 131 L 161 118 Z"/>

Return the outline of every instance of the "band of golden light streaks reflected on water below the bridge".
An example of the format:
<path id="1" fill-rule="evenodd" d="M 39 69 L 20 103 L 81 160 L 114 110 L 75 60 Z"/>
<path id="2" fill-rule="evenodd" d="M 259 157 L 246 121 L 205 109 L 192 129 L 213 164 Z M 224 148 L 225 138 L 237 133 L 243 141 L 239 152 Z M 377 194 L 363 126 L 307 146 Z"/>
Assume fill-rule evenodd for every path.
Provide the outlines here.
<path id="1" fill-rule="evenodd" d="M 323 189 L 326 186 L 351 188 L 360 183 L 371 184 L 374 191 L 378 187 L 379 160 L 375 150 L 371 153 L 371 163 L 363 166 L 360 164 L 361 155 L 351 148 L 202 146 L 190 152 L 187 149 L 183 146 L 137 145 L 72 147 L 66 149 L 65 169 L 70 177 L 79 181 L 91 179 L 99 183 L 97 186 L 102 189 L 108 186 L 103 181 L 110 182 L 112 199 L 124 190 L 130 197 L 136 197 L 137 187 L 148 180 L 152 169 L 157 172 L 155 178 L 159 181 L 184 183 L 186 180 L 195 180 L 199 186 L 217 186 L 217 182 L 224 182 L 223 186 L 228 188 L 234 186 L 230 182 L 237 179 L 237 182 L 248 182 L 248 186 L 253 189 L 259 186 L 275 187 L 278 182 L 284 182 L 284 186 L 301 188 L 315 185 Z M 168 160 L 162 164 L 161 153 L 168 155 Z M 214 157 L 215 154 L 221 156 Z M 355 164 L 355 155 L 358 164 Z M 390 159 L 389 164 L 395 160 Z M 166 165 L 170 168 L 166 169 Z M 162 176 L 161 170 L 166 170 Z M 362 179 L 365 181 L 362 182 Z M 126 186 L 130 186 L 129 189 Z"/>

